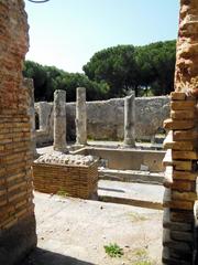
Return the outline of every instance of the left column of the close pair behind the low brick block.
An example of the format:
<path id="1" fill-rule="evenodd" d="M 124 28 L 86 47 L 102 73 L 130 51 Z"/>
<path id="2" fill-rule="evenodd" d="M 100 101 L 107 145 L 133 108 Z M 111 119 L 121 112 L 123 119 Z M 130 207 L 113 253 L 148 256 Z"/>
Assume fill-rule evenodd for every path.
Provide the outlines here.
<path id="1" fill-rule="evenodd" d="M 54 92 L 54 150 L 67 151 L 66 144 L 66 92 Z"/>

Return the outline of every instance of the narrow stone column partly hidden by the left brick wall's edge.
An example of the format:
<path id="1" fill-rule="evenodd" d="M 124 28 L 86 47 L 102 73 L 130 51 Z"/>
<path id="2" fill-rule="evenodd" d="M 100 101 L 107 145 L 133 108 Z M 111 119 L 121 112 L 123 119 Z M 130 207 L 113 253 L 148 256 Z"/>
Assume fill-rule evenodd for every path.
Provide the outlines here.
<path id="1" fill-rule="evenodd" d="M 28 115 L 30 115 L 30 123 L 31 123 L 31 148 L 34 158 L 37 158 L 38 153 L 36 151 L 36 135 L 35 135 L 35 109 L 34 109 L 34 84 L 32 78 L 24 78 L 23 85 L 28 91 L 29 95 L 29 108 Z"/>

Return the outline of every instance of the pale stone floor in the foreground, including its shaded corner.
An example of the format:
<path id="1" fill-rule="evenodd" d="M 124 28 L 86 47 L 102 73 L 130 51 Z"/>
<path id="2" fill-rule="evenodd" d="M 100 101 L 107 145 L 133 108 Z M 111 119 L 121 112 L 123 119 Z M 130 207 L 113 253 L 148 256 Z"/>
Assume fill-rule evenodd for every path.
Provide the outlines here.
<path id="1" fill-rule="evenodd" d="M 161 264 L 162 211 L 38 192 L 34 201 L 38 248 L 21 265 Z M 106 254 L 110 243 L 122 257 Z"/>

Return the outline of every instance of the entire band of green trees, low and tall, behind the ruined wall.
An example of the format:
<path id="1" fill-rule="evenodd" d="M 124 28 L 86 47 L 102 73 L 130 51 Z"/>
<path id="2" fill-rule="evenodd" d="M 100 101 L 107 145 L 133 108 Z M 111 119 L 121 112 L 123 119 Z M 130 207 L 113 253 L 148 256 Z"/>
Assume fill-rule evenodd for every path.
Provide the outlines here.
<path id="1" fill-rule="evenodd" d="M 34 81 L 35 100 L 53 100 L 55 89 L 65 89 L 72 102 L 79 86 L 86 87 L 88 100 L 124 96 L 131 89 L 136 96 L 158 96 L 174 89 L 175 57 L 175 41 L 118 45 L 95 53 L 82 67 L 85 74 L 25 61 L 23 75 Z"/>

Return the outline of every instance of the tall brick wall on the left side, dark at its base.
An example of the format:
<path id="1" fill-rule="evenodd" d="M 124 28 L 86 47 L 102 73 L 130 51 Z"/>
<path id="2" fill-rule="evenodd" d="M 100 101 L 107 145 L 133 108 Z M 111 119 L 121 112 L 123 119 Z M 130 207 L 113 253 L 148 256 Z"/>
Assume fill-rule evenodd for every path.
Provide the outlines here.
<path id="1" fill-rule="evenodd" d="M 0 264 L 36 245 L 32 202 L 31 121 L 22 67 L 28 51 L 24 2 L 0 1 Z"/>

